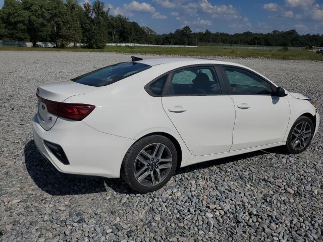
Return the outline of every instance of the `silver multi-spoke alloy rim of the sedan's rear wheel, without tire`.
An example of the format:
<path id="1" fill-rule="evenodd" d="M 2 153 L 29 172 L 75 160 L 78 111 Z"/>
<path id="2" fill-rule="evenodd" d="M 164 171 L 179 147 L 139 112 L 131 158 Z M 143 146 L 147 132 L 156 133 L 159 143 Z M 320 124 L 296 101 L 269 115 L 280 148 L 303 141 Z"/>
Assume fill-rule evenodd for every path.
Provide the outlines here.
<path id="1" fill-rule="evenodd" d="M 143 186 L 155 186 L 167 177 L 172 164 L 172 153 L 166 145 L 160 143 L 147 145 L 136 157 L 135 178 Z"/>

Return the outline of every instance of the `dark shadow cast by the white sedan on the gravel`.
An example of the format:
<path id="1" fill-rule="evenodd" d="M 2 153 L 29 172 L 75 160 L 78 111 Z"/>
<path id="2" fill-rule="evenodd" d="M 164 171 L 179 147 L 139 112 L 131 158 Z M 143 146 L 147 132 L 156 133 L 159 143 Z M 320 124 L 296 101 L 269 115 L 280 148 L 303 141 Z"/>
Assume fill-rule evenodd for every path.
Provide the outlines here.
<path id="1" fill-rule="evenodd" d="M 275 150 L 268 151 L 275 152 Z M 79 195 L 106 192 L 110 187 L 121 194 L 138 194 L 131 189 L 121 178 L 104 178 L 98 176 L 83 176 L 64 174 L 54 171 L 38 152 L 33 140 L 25 146 L 25 163 L 27 171 L 34 183 L 44 192 L 52 196 Z M 188 173 L 194 170 L 204 169 L 211 166 L 223 165 L 238 160 L 259 156 L 263 151 L 255 151 L 247 154 L 210 160 L 183 168 L 178 168 L 176 174 Z"/>

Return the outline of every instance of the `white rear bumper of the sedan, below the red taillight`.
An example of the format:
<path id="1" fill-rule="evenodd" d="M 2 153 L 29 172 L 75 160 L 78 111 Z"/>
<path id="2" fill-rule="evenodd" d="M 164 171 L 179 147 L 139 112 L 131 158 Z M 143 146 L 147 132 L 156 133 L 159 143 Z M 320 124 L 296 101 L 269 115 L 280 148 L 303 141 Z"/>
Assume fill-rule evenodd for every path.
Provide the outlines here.
<path id="1" fill-rule="evenodd" d="M 83 122 L 58 118 L 49 131 L 32 120 L 34 142 L 41 155 L 60 172 L 104 177 L 119 177 L 124 155 L 134 143 L 133 139 L 105 134 Z M 62 163 L 45 141 L 60 145 L 70 164 Z"/>

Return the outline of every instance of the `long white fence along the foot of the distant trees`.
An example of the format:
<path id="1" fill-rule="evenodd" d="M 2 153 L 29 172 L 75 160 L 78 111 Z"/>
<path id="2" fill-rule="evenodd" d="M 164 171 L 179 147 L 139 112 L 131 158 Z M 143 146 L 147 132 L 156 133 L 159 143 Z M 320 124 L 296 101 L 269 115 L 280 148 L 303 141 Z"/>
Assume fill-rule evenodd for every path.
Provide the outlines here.
<path id="1" fill-rule="evenodd" d="M 27 41 L 2 41 L 0 46 L 25 46 L 32 47 L 32 42 Z M 37 42 L 39 47 L 55 47 L 55 43 L 50 42 Z M 83 43 L 78 43 L 77 46 L 85 46 Z M 196 45 L 161 45 L 161 44 L 137 44 L 137 43 L 106 43 L 106 46 L 151 46 L 151 47 L 198 47 Z M 73 43 L 69 43 L 67 47 L 74 47 Z M 223 48 L 223 49 L 281 49 L 282 46 L 204 46 L 209 48 Z M 289 49 L 303 49 L 304 47 L 288 47 Z M 323 47 L 317 47 L 318 49 Z"/>

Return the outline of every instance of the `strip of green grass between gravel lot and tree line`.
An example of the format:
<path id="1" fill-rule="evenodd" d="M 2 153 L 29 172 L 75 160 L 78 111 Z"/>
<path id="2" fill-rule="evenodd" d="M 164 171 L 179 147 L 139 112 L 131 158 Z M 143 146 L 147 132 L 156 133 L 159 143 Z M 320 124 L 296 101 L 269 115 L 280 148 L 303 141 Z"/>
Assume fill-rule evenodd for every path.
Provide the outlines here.
<path id="1" fill-rule="evenodd" d="M 104 49 L 86 48 L 41 48 L 41 47 L 12 47 L 0 46 L 0 50 L 15 51 L 77 51 L 77 52 L 117 52 L 140 54 L 166 54 L 181 56 L 235 56 L 235 57 L 264 57 L 268 59 L 303 59 L 323 61 L 323 54 L 316 54 L 306 49 L 222 49 L 212 47 L 137 47 L 137 46 L 107 46 Z"/>

